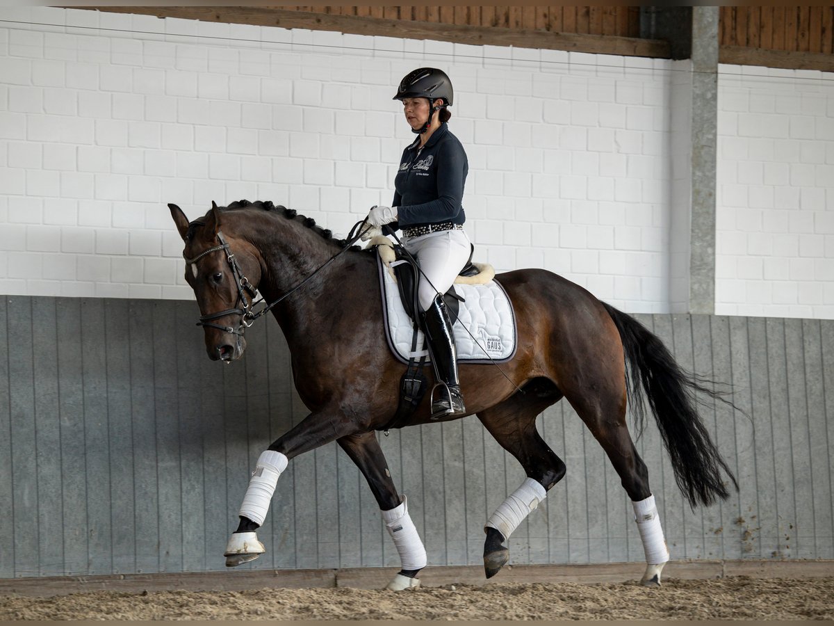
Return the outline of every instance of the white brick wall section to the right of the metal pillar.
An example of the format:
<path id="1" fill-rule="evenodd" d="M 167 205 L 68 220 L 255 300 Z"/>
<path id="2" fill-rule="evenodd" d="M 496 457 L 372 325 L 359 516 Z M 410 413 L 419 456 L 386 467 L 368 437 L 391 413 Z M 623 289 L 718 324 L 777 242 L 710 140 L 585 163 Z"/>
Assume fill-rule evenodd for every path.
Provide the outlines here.
<path id="1" fill-rule="evenodd" d="M 834 74 L 721 65 L 716 312 L 834 317 Z"/>

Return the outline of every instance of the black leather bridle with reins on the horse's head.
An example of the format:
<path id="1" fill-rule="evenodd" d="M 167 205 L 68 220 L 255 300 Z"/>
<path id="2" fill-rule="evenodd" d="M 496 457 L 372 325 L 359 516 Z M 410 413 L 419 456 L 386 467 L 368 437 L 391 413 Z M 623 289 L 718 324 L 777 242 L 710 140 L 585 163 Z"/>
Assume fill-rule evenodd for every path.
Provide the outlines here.
<path id="1" fill-rule="evenodd" d="M 357 222 L 354 227 L 350 230 L 348 235 L 348 240 L 345 242 L 344 246 L 342 247 L 339 252 L 335 255 L 331 256 L 328 260 L 324 261 L 322 265 L 319 265 L 312 274 L 307 276 L 304 280 L 302 280 L 298 285 L 295 285 L 291 290 L 287 291 L 284 295 L 282 295 L 278 300 L 274 300 L 270 302 L 269 305 L 264 305 L 264 308 L 260 310 L 253 310 L 255 305 L 259 305 L 261 302 L 264 302 L 264 299 L 261 298 L 257 302 L 253 301 L 254 298 L 258 295 L 258 288 L 252 285 L 249 282 L 249 279 L 244 276 L 242 270 L 240 270 L 240 266 L 238 265 L 238 261 L 235 259 L 234 254 L 232 253 L 231 248 L 229 247 L 229 243 L 224 239 L 223 233 L 218 231 L 217 239 L 220 242 L 220 245 L 215 245 L 213 248 L 208 248 L 208 250 L 203 250 L 200 254 L 195 256 L 193 259 L 188 259 L 183 252 L 183 259 L 185 259 L 186 265 L 193 265 L 198 260 L 202 259 L 205 255 L 210 255 L 213 252 L 218 252 L 219 250 L 225 250 L 226 252 L 226 260 L 229 263 L 229 268 L 232 270 L 232 275 L 234 276 L 235 285 L 238 287 L 238 300 L 234 303 L 234 309 L 226 309 L 218 311 L 217 313 L 208 313 L 204 316 L 200 316 L 199 321 L 197 322 L 197 326 L 208 326 L 210 328 L 216 328 L 219 331 L 229 332 L 234 335 L 243 336 L 244 331 L 254 324 L 254 321 L 257 320 L 260 316 L 266 315 L 270 309 L 272 309 L 275 305 L 278 305 L 279 302 L 288 298 L 290 295 L 293 295 L 295 291 L 301 289 L 304 285 L 307 284 L 309 280 L 311 280 L 315 275 L 317 275 L 321 270 L 324 270 L 325 267 L 333 263 L 339 255 L 342 255 L 345 250 L 349 250 L 352 245 L 354 245 L 359 238 L 364 233 L 364 225 L 366 224 L 366 220 L 362 220 Z M 249 294 L 249 298 L 246 295 Z M 215 324 L 214 320 L 218 320 L 221 317 L 225 316 L 240 316 L 240 325 L 237 328 L 234 326 L 220 326 L 219 324 Z"/>

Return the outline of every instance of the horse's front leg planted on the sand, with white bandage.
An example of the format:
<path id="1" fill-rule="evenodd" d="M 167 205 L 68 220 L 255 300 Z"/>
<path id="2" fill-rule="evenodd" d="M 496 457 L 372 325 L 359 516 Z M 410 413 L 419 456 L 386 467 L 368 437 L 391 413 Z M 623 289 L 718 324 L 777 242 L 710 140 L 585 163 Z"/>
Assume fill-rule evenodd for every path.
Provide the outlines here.
<path id="1" fill-rule="evenodd" d="M 420 587 L 417 573 L 426 565 L 425 546 L 420 540 L 417 528 L 409 517 L 408 501 L 400 498 L 391 479 L 388 463 L 379 447 L 376 433 L 362 432 L 339 439 L 339 446 L 356 463 L 359 471 L 368 481 L 371 492 L 379 504 L 385 528 L 394 540 L 394 546 L 399 553 L 402 569 L 388 583 L 388 589 L 402 591 L 403 589 Z"/>

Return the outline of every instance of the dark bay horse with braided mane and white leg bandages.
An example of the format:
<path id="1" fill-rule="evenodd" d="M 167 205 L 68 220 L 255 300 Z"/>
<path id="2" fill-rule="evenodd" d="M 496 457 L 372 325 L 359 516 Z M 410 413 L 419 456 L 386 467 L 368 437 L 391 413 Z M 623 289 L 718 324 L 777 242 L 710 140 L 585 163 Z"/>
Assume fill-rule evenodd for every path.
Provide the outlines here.
<path id="1" fill-rule="evenodd" d="M 256 531 L 287 463 L 335 441 L 364 475 L 399 553 L 402 568 L 387 588 L 419 586 L 425 547 L 376 437 L 394 417 L 403 369 L 384 337 L 376 255 L 334 240 L 315 220 L 272 202 L 213 202 L 191 222 L 176 204 L 168 208 L 183 239 L 185 279 L 196 295 L 208 357 L 227 365 L 241 358 L 246 327 L 270 310 L 289 346 L 296 390 L 310 411 L 260 455 L 224 553 L 227 566 L 265 552 Z M 639 321 L 580 285 L 541 269 L 509 271 L 494 280 L 515 310 L 515 355 L 500 367 L 461 364 L 460 380 L 466 415 L 477 416 L 526 478 L 485 523 L 486 578 L 509 561 L 510 534 L 565 476 L 565 462 L 535 426 L 536 416 L 565 398 L 631 498 L 646 554 L 641 583 L 660 586 L 670 555 L 646 464 L 626 424 L 627 403 L 642 429 L 647 401 L 677 486 L 694 508 L 729 496 L 722 471 L 738 488 L 701 421 L 697 394 L 731 401 L 683 370 Z M 256 292 L 270 303 L 257 313 Z M 429 368 L 425 374 L 434 377 Z M 424 397 L 395 427 L 435 423 L 429 404 Z"/>

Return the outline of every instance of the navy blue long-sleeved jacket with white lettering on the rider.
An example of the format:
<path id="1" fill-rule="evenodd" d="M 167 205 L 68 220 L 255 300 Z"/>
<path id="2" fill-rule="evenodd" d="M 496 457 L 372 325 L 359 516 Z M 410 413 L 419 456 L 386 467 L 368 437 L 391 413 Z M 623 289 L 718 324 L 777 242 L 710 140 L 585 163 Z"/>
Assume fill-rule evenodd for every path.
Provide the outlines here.
<path id="1" fill-rule="evenodd" d="M 399 228 L 466 220 L 463 204 L 464 183 L 469 160 L 460 140 L 449 126 L 440 128 L 426 142 L 420 155 L 418 137 L 403 150 L 399 172 L 394 178 L 394 201 Z"/>

